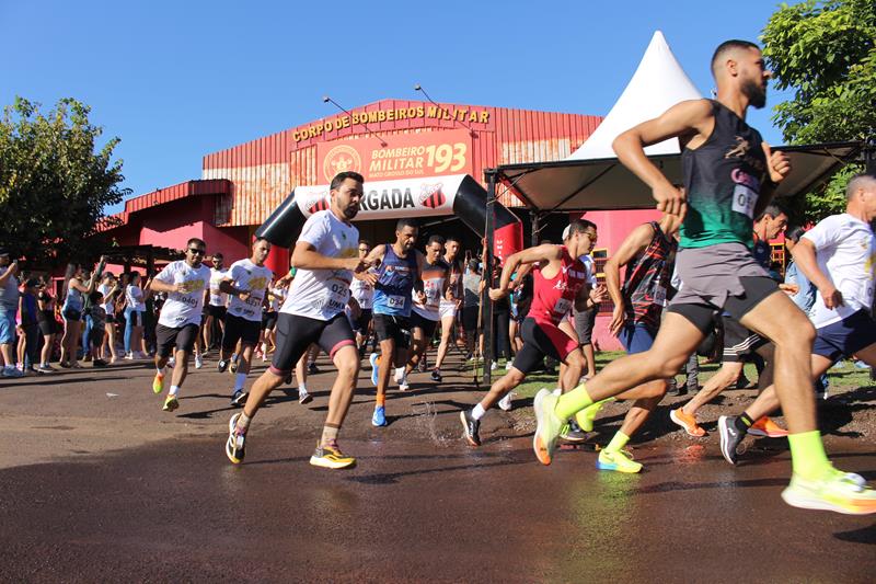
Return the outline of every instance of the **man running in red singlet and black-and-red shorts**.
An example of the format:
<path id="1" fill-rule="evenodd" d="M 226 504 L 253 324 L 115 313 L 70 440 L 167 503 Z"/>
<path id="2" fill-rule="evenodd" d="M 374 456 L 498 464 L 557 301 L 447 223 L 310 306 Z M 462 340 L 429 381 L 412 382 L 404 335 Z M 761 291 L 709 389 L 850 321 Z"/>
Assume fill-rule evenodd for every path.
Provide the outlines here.
<path id="1" fill-rule="evenodd" d="M 510 293 L 511 274 L 520 266 L 535 264 L 532 304 L 523 319 L 520 335 L 523 348 L 504 377 L 497 379 L 481 402 L 471 411 L 460 412 L 465 439 L 472 446 L 481 445 L 481 419 L 486 411 L 506 393 L 523 382 L 527 375 L 541 367 L 545 355 L 565 363 L 566 375 L 560 379 L 563 390 L 568 390 L 581 377 L 584 354 L 575 339 L 560 330 L 560 321 L 566 318 L 573 305 L 583 308 L 590 294 L 584 264 L 578 259 L 590 245 L 595 226 L 576 219 L 572 221 L 566 245 L 545 243 L 514 253 L 505 261 L 499 287 L 489 290 L 492 300 L 505 298 Z"/>

